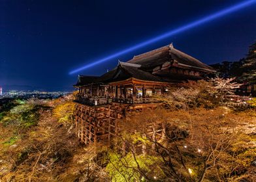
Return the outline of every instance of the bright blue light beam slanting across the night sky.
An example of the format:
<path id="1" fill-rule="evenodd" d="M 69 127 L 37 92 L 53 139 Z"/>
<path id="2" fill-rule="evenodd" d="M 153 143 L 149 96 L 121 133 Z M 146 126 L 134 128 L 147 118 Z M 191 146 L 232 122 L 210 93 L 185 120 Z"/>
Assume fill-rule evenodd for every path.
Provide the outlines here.
<path id="1" fill-rule="evenodd" d="M 204 18 L 201 18 L 197 21 L 193 21 L 191 23 L 188 23 L 187 25 L 184 25 L 182 27 L 178 27 L 177 29 L 165 32 L 164 34 L 161 34 L 155 38 L 151 38 L 150 40 L 147 40 L 145 42 L 141 42 L 140 44 L 134 45 L 133 47 L 129 47 L 127 49 L 123 49 L 122 51 L 119 51 L 118 53 L 114 53 L 112 55 L 109 55 L 108 57 L 104 57 L 103 59 L 99 59 L 95 62 L 92 62 L 90 64 L 86 64 L 85 66 L 82 66 L 81 68 L 78 68 L 76 70 L 73 70 L 69 72 L 70 75 L 80 72 L 82 70 L 86 70 L 88 68 L 91 68 L 92 66 L 95 66 L 101 62 L 105 62 L 106 60 L 114 59 L 120 55 L 124 55 L 125 53 L 129 53 L 131 51 L 134 51 L 138 48 L 144 47 L 146 45 L 152 44 L 154 42 L 158 42 L 159 40 L 163 40 L 164 38 L 168 38 L 170 36 L 173 36 L 174 34 L 178 34 L 180 32 L 187 31 L 188 29 L 192 29 L 193 27 L 197 27 L 199 25 L 202 25 L 203 23 L 207 23 L 209 21 L 212 21 L 217 18 L 221 18 L 222 16 L 225 16 L 227 14 L 231 14 L 232 12 L 236 12 L 242 8 L 246 8 L 249 5 L 253 5 L 253 3 L 256 3 L 256 0 L 249 0 L 249 1 L 243 1 L 242 3 L 238 3 L 234 6 L 229 6 L 228 8 L 225 8 L 223 10 L 220 10 L 219 12 L 216 12 L 214 14 L 208 15 Z"/>

